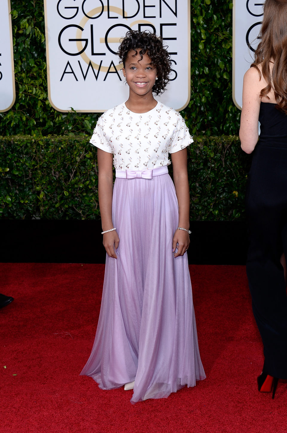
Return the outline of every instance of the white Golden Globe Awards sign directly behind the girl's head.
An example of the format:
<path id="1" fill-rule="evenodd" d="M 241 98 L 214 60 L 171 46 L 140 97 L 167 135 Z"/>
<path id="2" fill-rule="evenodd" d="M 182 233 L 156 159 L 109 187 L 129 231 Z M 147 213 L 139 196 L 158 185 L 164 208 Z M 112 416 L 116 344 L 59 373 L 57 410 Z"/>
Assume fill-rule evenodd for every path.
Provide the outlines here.
<path id="1" fill-rule="evenodd" d="M 163 37 L 175 109 L 190 99 L 190 3 L 178 0 L 45 0 L 48 94 L 59 111 L 103 112 L 128 97 L 117 56 L 128 30 Z"/>

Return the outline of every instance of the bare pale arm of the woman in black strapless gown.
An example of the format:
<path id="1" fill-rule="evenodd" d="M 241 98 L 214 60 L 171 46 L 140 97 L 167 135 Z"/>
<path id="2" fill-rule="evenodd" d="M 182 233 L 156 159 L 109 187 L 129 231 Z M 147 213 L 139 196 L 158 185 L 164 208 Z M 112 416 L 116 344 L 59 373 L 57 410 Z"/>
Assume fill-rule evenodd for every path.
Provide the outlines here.
<path id="1" fill-rule="evenodd" d="M 242 92 L 242 113 L 240 118 L 239 138 L 241 148 L 246 153 L 253 152 L 258 141 L 258 117 L 261 88 L 257 69 L 250 68 L 244 75 Z"/>

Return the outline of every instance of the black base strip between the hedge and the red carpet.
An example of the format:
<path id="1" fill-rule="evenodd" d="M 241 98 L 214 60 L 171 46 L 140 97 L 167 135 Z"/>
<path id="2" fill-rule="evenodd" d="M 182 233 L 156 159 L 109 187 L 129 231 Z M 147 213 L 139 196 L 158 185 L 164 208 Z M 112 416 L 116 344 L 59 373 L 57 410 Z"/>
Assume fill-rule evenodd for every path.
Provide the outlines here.
<path id="1" fill-rule="evenodd" d="M 193 221 L 190 229 L 190 264 L 245 264 L 246 223 Z M 101 232 L 100 221 L 0 220 L 0 262 L 105 263 Z"/>

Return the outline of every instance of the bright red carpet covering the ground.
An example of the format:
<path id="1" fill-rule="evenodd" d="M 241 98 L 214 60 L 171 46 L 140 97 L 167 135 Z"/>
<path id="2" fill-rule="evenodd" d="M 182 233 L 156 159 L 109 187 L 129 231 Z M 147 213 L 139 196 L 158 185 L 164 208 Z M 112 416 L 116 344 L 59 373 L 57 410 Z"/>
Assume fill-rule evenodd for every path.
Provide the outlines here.
<path id="1" fill-rule="evenodd" d="M 0 433 L 287 432 L 287 381 L 257 391 L 263 364 L 244 266 L 191 266 L 207 379 L 131 405 L 79 376 L 99 315 L 104 265 L 0 264 Z M 6 368 L 5 368 L 5 367 Z"/>

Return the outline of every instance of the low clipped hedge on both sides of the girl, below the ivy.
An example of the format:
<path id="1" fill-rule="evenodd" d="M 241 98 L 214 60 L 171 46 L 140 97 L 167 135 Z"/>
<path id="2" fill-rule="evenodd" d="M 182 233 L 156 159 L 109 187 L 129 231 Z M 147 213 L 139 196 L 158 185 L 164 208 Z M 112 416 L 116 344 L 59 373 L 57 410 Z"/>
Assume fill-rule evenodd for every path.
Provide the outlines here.
<path id="1" fill-rule="evenodd" d="M 88 136 L 0 137 L 1 218 L 98 219 L 96 149 Z M 191 220 L 239 220 L 249 157 L 237 136 L 188 148 Z"/>

